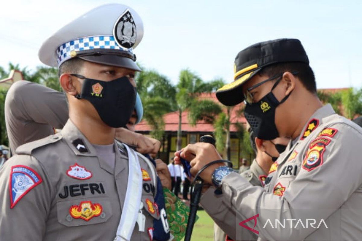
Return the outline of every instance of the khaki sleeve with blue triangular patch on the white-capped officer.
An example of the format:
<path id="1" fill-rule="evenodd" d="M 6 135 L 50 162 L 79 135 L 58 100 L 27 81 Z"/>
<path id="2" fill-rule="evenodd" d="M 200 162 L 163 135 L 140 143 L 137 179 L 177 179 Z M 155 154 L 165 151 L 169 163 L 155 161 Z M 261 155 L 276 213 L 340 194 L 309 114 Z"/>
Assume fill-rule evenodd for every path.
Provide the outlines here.
<path id="1" fill-rule="evenodd" d="M 1 240 L 43 240 L 51 190 L 39 162 L 16 155 L 0 169 Z"/>

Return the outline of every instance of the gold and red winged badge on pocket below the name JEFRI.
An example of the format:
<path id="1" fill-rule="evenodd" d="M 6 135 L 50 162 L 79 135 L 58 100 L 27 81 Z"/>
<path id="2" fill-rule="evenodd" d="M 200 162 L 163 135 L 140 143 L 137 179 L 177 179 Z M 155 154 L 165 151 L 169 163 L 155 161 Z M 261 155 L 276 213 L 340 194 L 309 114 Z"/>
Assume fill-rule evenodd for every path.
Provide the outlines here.
<path id="1" fill-rule="evenodd" d="M 91 201 L 82 201 L 79 205 L 73 205 L 69 208 L 69 214 L 76 219 L 89 221 L 90 219 L 101 215 L 102 206 L 99 203 Z"/>

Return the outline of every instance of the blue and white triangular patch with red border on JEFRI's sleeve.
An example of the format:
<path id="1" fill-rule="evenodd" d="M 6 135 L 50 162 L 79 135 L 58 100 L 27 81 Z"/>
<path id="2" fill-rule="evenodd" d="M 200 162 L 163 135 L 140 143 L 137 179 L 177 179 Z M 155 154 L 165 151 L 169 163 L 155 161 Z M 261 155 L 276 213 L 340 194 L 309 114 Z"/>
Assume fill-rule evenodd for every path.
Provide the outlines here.
<path id="1" fill-rule="evenodd" d="M 37 172 L 25 165 L 11 167 L 9 180 L 10 208 L 24 197 L 31 189 L 41 184 L 42 178 Z"/>

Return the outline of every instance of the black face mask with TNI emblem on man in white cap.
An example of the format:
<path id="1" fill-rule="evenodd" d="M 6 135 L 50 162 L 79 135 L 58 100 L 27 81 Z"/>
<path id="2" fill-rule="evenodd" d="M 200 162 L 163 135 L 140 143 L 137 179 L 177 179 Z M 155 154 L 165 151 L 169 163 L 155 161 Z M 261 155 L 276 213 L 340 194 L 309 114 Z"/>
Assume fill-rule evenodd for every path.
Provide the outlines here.
<path id="1" fill-rule="evenodd" d="M 136 102 L 136 88 L 127 77 L 101 81 L 72 75 L 84 79 L 82 91 L 75 97 L 88 100 L 105 124 L 114 128 L 127 124 Z"/>

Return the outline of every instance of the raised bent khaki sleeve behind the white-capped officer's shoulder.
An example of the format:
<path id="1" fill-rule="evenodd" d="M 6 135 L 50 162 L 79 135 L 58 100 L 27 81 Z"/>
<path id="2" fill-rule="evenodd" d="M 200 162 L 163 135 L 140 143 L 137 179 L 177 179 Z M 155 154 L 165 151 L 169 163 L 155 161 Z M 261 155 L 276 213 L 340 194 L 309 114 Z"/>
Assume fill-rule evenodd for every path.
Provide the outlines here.
<path id="1" fill-rule="evenodd" d="M 5 99 L 5 121 L 12 153 L 18 146 L 54 134 L 68 119 L 62 92 L 29 81 L 14 83 Z"/>

